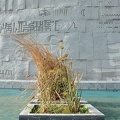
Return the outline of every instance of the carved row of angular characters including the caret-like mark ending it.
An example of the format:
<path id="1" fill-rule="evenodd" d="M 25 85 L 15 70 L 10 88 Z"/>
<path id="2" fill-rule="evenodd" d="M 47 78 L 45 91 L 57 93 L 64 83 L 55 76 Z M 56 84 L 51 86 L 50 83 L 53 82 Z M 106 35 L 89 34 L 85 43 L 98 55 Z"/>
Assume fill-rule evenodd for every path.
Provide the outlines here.
<path id="1" fill-rule="evenodd" d="M 0 23 L 0 33 L 34 33 L 34 32 L 61 32 L 64 26 L 63 21 L 59 20 L 42 20 L 42 21 L 18 21 L 16 23 Z M 64 27 L 66 32 L 71 29 L 77 28 L 75 21 L 66 22 L 67 26 Z"/>

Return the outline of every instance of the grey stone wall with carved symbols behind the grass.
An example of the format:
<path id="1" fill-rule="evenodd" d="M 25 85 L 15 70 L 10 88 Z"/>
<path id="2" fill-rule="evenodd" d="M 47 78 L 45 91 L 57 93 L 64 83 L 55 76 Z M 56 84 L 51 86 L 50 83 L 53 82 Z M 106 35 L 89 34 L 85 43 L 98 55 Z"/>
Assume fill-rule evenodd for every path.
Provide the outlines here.
<path id="1" fill-rule="evenodd" d="M 57 41 L 86 81 L 120 81 L 120 0 L 0 0 L 0 79 L 34 79 L 32 60 L 9 34 L 26 33 L 57 54 Z"/>

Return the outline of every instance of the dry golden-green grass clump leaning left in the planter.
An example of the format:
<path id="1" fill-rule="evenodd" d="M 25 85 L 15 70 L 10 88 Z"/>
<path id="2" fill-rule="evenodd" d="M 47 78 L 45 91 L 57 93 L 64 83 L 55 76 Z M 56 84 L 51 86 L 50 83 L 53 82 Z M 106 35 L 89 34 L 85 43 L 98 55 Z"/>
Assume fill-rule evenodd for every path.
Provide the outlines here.
<path id="1" fill-rule="evenodd" d="M 41 107 L 34 107 L 32 111 L 78 113 L 81 104 L 75 87 L 75 74 L 72 71 L 72 62 L 66 62 L 68 54 L 62 54 L 63 40 L 58 42 L 59 56 L 55 56 L 32 37 L 26 35 L 12 37 L 27 49 L 38 71 L 36 90 Z M 76 75 L 77 79 L 78 76 L 79 74 Z M 60 104 L 53 105 L 53 101 L 67 104 L 63 108 Z"/>

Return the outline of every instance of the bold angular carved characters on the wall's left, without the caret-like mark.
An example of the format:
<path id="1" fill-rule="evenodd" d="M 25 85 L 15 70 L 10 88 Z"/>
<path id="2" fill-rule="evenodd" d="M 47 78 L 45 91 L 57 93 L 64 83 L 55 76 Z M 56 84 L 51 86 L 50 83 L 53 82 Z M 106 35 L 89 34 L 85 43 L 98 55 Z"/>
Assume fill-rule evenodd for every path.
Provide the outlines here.
<path id="1" fill-rule="evenodd" d="M 0 23 L 0 33 L 31 33 L 56 31 L 58 20 L 18 21 L 17 23 Z"/>

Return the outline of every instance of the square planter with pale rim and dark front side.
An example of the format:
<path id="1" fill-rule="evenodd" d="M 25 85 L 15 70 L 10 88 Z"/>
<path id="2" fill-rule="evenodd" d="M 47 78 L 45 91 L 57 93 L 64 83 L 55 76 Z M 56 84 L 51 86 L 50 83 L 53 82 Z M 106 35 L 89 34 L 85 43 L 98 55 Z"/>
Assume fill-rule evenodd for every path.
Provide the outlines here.
<path id="1" fill-rule="evenodd" d="M 104 114 L 91 104 L 83 104 L 89 114 L 33 114 L 31 109 L 38 104 L 28 104 L 19 114 L 19 120 L 104 120 Z"/>

